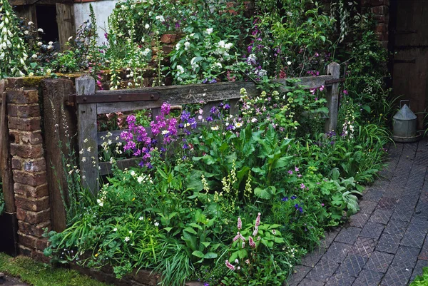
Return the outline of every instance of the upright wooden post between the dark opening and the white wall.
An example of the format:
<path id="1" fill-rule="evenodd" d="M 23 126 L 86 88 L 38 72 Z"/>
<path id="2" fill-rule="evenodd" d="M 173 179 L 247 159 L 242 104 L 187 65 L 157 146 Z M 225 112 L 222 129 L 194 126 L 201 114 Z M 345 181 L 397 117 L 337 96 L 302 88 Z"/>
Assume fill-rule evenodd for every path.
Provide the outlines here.
<path id="1" fill-rule="evenodd" d="M 56 3 L 56 23 L 58 24 L 61 51 L 66 49 L 68 38 L 75 36 L 74 9 L 72 5 Z"/>

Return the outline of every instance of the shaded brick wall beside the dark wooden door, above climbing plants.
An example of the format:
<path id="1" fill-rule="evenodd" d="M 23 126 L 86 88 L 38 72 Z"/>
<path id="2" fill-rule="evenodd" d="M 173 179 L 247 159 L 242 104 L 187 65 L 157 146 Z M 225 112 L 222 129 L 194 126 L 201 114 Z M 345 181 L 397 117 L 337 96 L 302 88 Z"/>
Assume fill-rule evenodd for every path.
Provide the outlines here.
<path id="1" fill-rule="evenodd" d="M 371 11 L 377 21 L 375 33 L 384 48 L 388 47 L 389 0 L 361 0 L 363 12 Z"/>

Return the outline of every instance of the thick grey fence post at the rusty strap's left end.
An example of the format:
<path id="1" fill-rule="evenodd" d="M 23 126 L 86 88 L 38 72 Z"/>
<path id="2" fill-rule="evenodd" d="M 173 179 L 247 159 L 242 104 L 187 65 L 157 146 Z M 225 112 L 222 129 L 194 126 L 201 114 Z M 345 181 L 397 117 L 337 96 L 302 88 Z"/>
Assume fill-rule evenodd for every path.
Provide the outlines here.
<path id="1" fill-rule="evenodd" d="M 76 78 L 76 94 L 91 96 L 95 94 L 95 81 L 91 76 Z M 79 165 L 83 187 L 98 192 L 98 143 L 96 129 L 96 103 L 81 103 L 77 106 L 77 133 Z"/>

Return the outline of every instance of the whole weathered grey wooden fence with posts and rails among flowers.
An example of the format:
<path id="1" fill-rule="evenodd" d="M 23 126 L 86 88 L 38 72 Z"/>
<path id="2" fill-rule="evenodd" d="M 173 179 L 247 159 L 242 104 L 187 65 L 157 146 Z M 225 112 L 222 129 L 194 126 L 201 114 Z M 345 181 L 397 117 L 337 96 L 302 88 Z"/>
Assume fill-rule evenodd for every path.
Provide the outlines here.
<path id="1" fill-rule="evenodd" d="M 290 91 L 287 81 L 291 78 L 280 79 L 281 92 Z M 337 108 L 339 96 L 340 65 L 330 63 L 327 68 L 327 76 L 314 76 L 304 78 L 292 78 L 298 80 L 296 85 L 305 88 L 327 87 L 327 107 L 329 116 L 325 123 L 325 130 L 332 131 L 337 126 Z M 207 103 L 207 107 L 217 104 L 219 101 L 230 101 L 231 113 L 238 113 L 235 104 L 240 98 L 240 89 L 245 88 L 248 95 L 255 96 L 259 93 L 252 82 L 215 83 L 212 85 L 187 85 L 187 86 L 161 86 L 154 88 L 128 89 L 119 91 L 95 91 L 95 81 L 90 76 L 81 76 L 76 79 L 76 95 L 71 100 L 77 104 L 78 113 L 78 150 L 82 180 L 93 193 L 99 188 L 98 176 L 105 175 L 111 168 L 111 163 L 98 162 L 98 146 L 103 143 L 102 137 L 106 133 L 97 131 L 97 115 L 113 112 L 135 111 L 151 109 L 153 118 L 160 112 L 163 103 L 171 106 L 184 104 Z M 209 109 L 208 109 L 209 110 Z M 122 131 L 111 131 L 112 141 Z M 134 159 L 118 161 L 120 168 L 130 165 Z M 98 170 L 99 169 L 99 170 Z"/>

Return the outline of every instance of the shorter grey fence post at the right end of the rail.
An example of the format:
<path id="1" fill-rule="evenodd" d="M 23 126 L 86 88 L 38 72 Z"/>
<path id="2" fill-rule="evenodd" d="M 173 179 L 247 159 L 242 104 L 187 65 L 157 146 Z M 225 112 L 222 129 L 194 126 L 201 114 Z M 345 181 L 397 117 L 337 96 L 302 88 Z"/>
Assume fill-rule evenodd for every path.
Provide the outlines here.
<path id="1" fill-rule="evenodd" d="M 327 66 L 327 75 L 333 76 L 334 79 L 340 78 L 339 63 L 330 63 Z M 339 111 L 339 83 L 333 83 L 327 88 L 327 107 L 328 117 L 325 121 L 325 132 L 337 131 L 337 113 Z"/>

